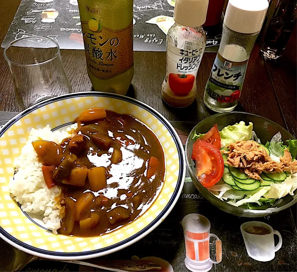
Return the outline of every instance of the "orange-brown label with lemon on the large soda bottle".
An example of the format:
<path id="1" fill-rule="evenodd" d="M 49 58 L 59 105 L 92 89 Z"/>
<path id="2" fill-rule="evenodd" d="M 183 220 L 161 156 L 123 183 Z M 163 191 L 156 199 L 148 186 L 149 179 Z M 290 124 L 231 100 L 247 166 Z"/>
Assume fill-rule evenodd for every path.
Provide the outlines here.
<path id="1" fill-rule="evenodd" d="M 87 66 L 98 78 L 111 77 L 133 65 L 132 23 L 115 31 L 102 27 L 100 20 L 91 18 L 82 22 L 82 30 Z"/>

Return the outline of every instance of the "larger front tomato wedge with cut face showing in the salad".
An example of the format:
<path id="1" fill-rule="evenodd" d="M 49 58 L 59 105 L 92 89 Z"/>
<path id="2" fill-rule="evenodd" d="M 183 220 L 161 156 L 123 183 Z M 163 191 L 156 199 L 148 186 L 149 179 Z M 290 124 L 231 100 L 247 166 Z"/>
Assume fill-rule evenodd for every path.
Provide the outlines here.
<path id="1" fill-rule="evenodd" d="M 192 159 L 196 161 L 196 177 L 204 187 L 210 187 L 221 179 L 224 160 L 216 146 L 198 139 L 193 144 Z"/>

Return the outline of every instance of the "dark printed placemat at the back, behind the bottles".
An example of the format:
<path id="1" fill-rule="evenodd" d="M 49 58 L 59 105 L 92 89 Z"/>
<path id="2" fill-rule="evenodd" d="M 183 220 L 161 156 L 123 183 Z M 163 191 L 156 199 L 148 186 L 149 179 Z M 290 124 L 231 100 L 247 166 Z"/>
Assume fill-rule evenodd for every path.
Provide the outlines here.
<path id="1" fill-rule="evenodd" d="M 174 3 L 175 0 L 134 0 L 134 51 L 166 51 L 166 33 L 174 22 Z M 221 25 L 205 30 L 208 35 L 205 52 L 216 52 Z M 61 49 L 84 49 L 77 0 L 22 0 L 1 46 L 33 35 L 55 40 Z M 42 40 L 32 42 L 34 46 L 47 46 Z"/>

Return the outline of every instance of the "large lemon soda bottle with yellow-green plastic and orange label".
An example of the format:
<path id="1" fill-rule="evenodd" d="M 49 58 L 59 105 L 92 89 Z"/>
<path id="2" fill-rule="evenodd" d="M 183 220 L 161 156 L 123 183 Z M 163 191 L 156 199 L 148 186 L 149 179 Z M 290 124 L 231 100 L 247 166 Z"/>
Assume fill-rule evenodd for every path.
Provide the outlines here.
<path id="1" fill-rule="evenodd" d="M 134 74 L 133 0 L 78 0 L 78 6 L 95 91 L 126 95 Z"/>

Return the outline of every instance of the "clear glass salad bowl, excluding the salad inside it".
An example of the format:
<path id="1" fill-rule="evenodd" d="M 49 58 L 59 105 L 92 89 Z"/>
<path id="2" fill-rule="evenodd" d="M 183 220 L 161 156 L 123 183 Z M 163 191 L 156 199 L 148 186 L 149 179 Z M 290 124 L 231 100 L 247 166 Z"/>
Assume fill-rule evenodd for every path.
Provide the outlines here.
<path id="1" fill-rule="evenodd" d="M 270 121 L 264 117 L 260 117 L 251 113 L 241 113 L 241 112 L 230 112 L 230 113 L 219 113 L 212 115 L 210 117 L 205 118 L 201 122 L 199 122 L 191 131 L 188 136 L 186 143 L 186 162 L 189 174 L 192 178 L 193 183 L 195 184 L 198 191 L 214 206 L 217 208 L 226 211 L 232 215 L 244 216 L 244 217 L 260 217 L 265 215 L 271 215 L 273 213 L 277 213 L 281 210 L 285 210 L 286 208 L 292 206 L 297 202 L 297 190 L 295 190 L 294 195 L 286 195 L 282 198 L 282 201 L 279 201 L 277 205 L 273 208 L 268 208 L 266 210 L 249 210 L 242 207 L 235 207 L 226 202 L 218 199 L 212 193 L 210 193 L 206 188 L 204 188 L 200 182 L 197 180 L 195 176 L 195 167 L 194 161 L 191 159 L 192 155 L 192 147 L 195 140 L 192 139 L 194 132 L 196 130 L 198 133 L 206 133 L 208 132 L 213 125 L 217 124 L 218 129 L 222 130 L 227 125 L 234 125 L 235 123 L 239 123 L 240 121 L 244 121 L 246 124 L 248 122 L 252 122 L 254 125 L 254 131 L 258 138 L 260 138 L 262 143 L 266 143 L 266 141 L 270 141 L 273 135 L 278 133 L 282 134 L 282 140 L 295 139 L 292 134 L 290 134 L 287 130 L 282 128 L 280 125 Z"/>

